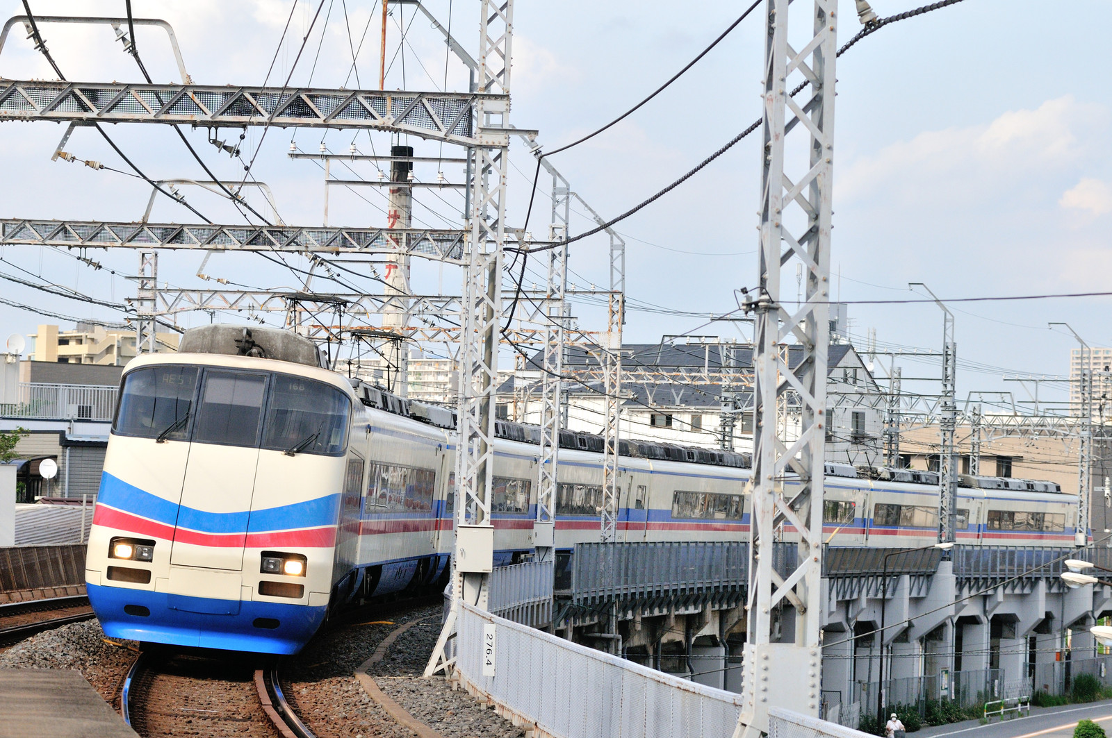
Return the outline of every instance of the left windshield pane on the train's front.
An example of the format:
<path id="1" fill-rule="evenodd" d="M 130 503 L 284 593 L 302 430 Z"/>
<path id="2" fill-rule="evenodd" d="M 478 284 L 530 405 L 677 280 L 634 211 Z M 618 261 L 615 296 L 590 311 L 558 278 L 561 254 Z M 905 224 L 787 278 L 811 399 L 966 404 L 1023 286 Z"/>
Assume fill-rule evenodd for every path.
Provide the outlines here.
<path id="1" fill-rule="evenodd" d="M 185 440 L 197 367 L 150 367 L 128 373 L 112 430 L 122 436 Z"/>

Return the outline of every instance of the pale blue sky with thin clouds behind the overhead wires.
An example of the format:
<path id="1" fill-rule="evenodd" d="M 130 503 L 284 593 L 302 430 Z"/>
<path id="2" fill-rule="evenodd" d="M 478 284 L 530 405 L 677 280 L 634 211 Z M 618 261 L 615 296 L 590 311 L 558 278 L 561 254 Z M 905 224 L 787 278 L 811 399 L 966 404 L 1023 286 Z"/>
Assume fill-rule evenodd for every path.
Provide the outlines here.
<path id="1" fill-rule="evenodd" d="M 905 0 L 875 0 L 880 16 L 916 7 Z M 198 83 L 281 84 L 292 68 L 292 84 L 377 87 L 378 13 L 373 2 L 325 0 L 301 58 L 294 67 L 317 1 L 216 0 L 132 3 L 137 17 L 169 21 L 186 67 Z M 513 109 L 510 122 L 538 129 L 553 150 L 608 122 L 682 68 L 739 14 L 747 3 L 676 6 L 671 2 L 612 0 L 517 2 L 515 7 Z M 853 1 L 842 0 L 840 41 L 855 33 Z M 0 4 L 0 8 L 3 8 Z M 122 2 L 38 0 L 37 16 L 117 16 Z M 426 7 L 471 53 L 477 48 L 478 3 L 428 0 Z M 292 13 L 291 13 L 292 8 Z M 21 14 L 19 2 L 7 2 Z M 450 11 L 450 12 L 449 12 Z M 390 89 L 466 89 L 466 71 L 449 54 L 439 33 L 411 7 L 391 6 L 387 34 Z M 282 29 L 289 19 L 289 30 Z M 368 24 L 368 21 L 369 24 Z M 834 161 L 832 287 L 850 302 L 854 343 L 865 350 L 871 331 L 882 350 L 937 350 L 942 312 L 932 303 L 861 303 L 921 298 L 910 282 L 924 282 L 943 299 L 1112 291 L 1112 101 L 1108 92 L 1103 29 L 1112 6 L 1100 0 L 1073 3 L 965 0 L 884 28 L 837 62 Z M 405 42 L 399 46 L 401 29 Z M 321 30 L 324 33 L 321 34 Z M 366 30 L 366 32 L 365 32 Z M 108 27 L 42 23 L 47 46 L 73 80 L 138 81 L 133 61 Z M 550 161 L 572 189 L 610 217 L 642 201 L 718 149 L 759 116 L 763 57 L 761 13 L 754 13 L 668 90 L 598 137 Z M 0 51 L 0 76 L 47 78 L 53 72 L 31 49 L 20 28 Z M 140 28 L 139 52 L 156 81 L 179 76 L 163 31 Z M 349 40 L 350 38 L 350 40 Z M 277 49 L 277 53 L 276 53 Z M 353 50 L 358 49 L 353 69 Z M 271 67 L 268 76 L 268 68 Z M 358 81 L 356 79 L 358 77 Z M 155 178 L 203 178 L 177 134 L 163 126 L 111 126 L 110 134 L 141 169 Z M 51 161 L 62 127 L 0 124 L 0 217 L 136 220 L 150 188 L 141 180 L 80 163 Z M 242 163 L 207 142 L 205 130 L 183 129 L 206 162 L 220 176 L 241 179 Z M 218 132 L 235 144 L 238 130 Z M 315 161 L 294 161 L 291 144 L 317 152 L 324 143 L 344 153 L 383 153 L 389 133 L 309 130 L 247 131 L 242 158 L 258 149 L 251 173 L 267 182 L 287 223 L 319 225 L 324 213 L 322 173 Z M 404 138 L 404 137 L 403 137 Z M 737 307 L 735 290 L 757 276 L 759 160 L 752 136 L 683 186 L 616 229 L 625 238 L 628 321 L 625 340 L 655 342 L 662 335 L 747 338 L 737 322 L 709 322 Z M 260 144 L 261 141 L 261 144 Z M 396 142 L 396 141 L 394 141 Z M 460 151 L 409 138 L 418 154 L 458 157 Z M 89 130 L 79 130 L 67 149 L 81 159 L 127 166 Z M 514 142 L 507 221 L 525 223 L 535 161 Z M 370 164 L 351 164 L 345 178 L 374 180 Z M 416 176 L 459 182 L 458 164 L 419 166 Z M 542 178 L 528 230 L 545 239 L 550 201 Z M 190 203 L 217 222 L 241 222 L 226 200 L 183 189 Z M 262 201 L 248 198 L 262 211 Z M 458 190 L 419 197 L 416 225 L 458 227 Z M 378 226 L 385 198 L 373 187 L 332 188 L 329 222 Z M 269 210 L 266 211 L 269 213 Z M 158 198 L 151 219 L 195 221 L 196 217 Z M 570 231 L 592 226 L 582 208 Z M 608 287 L 608 242 L 603 236 L 576 242 L 569 280 L 579 288 Z M 0 273 L 50 282 L 108 302 L 133 293 L 137 255 L 90 251 L 93 269 L 73 255 L 51 249 L 8 247 Z M 160 281 L 178 287 L 216 287 L 196 277 L 202 256 L 160 256 Z M 538 263 L 540 262 L 540 263 Z M 304 260 L 291 265 L 306 268 Z M 354 267 L 349 265 L 349 267 Z M 381 265 L 375 267 L 381 273 Z M 525 282 L 544 281 L 545 265 L 534 258 Z M 116 273 L 110 273 L 115 271 Z M 297 289 L 298 275 L 252 255 L 215 255 L 205 273 L 252 288 Z M 507 277 L 507 283 L 508 283 Z M 346 275 L 347 286 L 375 290 L 376 282 Z M 436 263 L 414 263 L 415 289 L 458 293 L 460 276 Z M 792 280 L 790 280 L 792 281 Z M 317 289 L 326 289 L 319 279 Z M 786 291 L 791 289 L 785 288 Z M 0 280 L 0 297 L 59 315 L 119 320 L 120 313 Z M 605 330 L 596 301 L 574 303 L 578 326 Z M 1020 383 L 1004 376 L 1069 372 L 1075 339 L 1066 321 L 1089 343 L 1112 346 L 1109 297 L 951 303 L 959 356 L 957 393 L 1012 391 Z M 182 315 L 188 327 L 210 319 L 238 322 L 242 315 Z M 271 320 L 275 317 L 270 318 Z M 67 320 L 0 305 L 0 332 L 30 333 L 40 322 Z M 877 363 L 887 366 L 887 359 Z M 904 377 L 934 378 L 937 359 L 902 357 Z M 884 373 L 878 369 L 880 373 Z M 905 387 L 907 382 L 905 381 Z M 936 383 L 921 382 L 920 391 Z M 1040 399 L 1066 397 L 1066 386 L 1048 385 Z"/>

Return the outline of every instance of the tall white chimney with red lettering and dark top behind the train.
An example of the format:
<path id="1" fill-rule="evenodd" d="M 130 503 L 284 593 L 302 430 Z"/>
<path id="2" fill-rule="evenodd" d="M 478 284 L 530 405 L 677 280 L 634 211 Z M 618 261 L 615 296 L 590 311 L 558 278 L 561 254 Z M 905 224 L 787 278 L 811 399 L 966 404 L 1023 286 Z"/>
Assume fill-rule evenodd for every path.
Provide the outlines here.
<path id="1" fill-rule="evenodd" d="M 383 6 L 386 6 L 384 0 Z M 414 149 L 410 146 L 390 148 L 390 195 L 386 211 L 387 228 L 408 229 L 413 226 L 413 188 L 409 180 L 413 177 Z M 383 328 L 398 335 L 386 346 L 386 365 L 391 368 L 393 382 L 390 391 L 400 397 L 409 396 L 409 347 L 405 340 L 405 329 L 409 323 L 409 301 L 404 296 L 413 290 L 409 286 L 409 255 L 399 248 L 395 240 L 395 249 L 389 252 L 386 261 L 386 297 L 399 299 L 390 301 L 390 309 L 383 312 Z"/>

